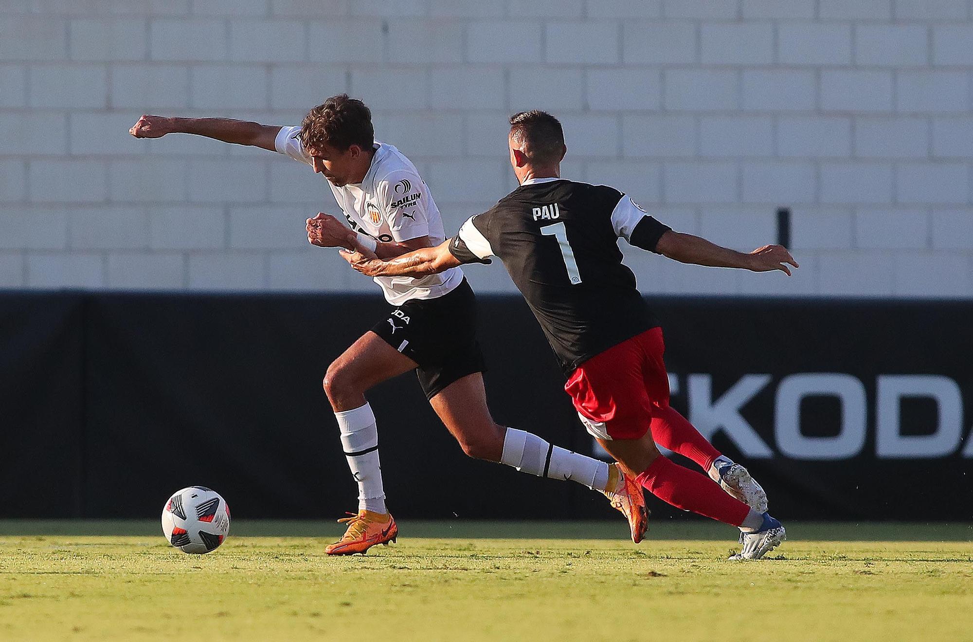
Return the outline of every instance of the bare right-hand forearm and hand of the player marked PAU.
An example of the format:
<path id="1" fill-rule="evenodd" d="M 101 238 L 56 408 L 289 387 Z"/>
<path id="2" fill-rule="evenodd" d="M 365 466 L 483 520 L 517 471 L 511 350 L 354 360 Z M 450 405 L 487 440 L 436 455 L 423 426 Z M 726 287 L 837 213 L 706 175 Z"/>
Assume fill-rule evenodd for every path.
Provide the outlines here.
<path id="1" fill-rule="evenodd" d="M 788 265 L 798 267 L 794 257 L 781 245 L 765 245 L 749 254 L 737 252 L 705 238 L 681 232 L 665 232 L 659 237 L 656 252 L 679 263 L 708 267 L 740 267 L 755 272 L 774 269 L 790 276 Z"/>

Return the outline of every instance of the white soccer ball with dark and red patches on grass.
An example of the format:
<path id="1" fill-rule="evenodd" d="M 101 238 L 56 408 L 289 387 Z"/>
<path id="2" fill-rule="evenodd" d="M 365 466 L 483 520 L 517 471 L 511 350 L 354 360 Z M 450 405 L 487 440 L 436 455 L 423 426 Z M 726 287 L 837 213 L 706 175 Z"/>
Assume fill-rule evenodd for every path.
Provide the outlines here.
<path id="1" fill-rule="evenodd" d="M 215 490 L 183 488 L 162 509 L 162 534 L 183 553 L 209 553 L 230 534 L 230 507 Z"/>

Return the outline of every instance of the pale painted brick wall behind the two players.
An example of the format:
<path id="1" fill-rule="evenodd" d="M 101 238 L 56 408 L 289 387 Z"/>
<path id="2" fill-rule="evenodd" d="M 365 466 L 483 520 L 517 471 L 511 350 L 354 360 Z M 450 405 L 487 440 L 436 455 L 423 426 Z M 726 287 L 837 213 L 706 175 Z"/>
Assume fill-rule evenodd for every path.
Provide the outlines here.
<path id="1" fill-rule="evenodd" d="M 0 20 L 0 287 L 374 292 L 304 220 L 301 163 L 142 113 L 293 125 L 349 91 L 448 232 L 514 186 L 513 111 L 566 176 L 750 249 L 793 209 L 792 279 L 626 252 L 646 292 L 973 298 L 969 0 L 99 0 Z M 469 270 L 510 292 L 498 267 Z M 773 275 L 771 275 L 773 276 Z"/>

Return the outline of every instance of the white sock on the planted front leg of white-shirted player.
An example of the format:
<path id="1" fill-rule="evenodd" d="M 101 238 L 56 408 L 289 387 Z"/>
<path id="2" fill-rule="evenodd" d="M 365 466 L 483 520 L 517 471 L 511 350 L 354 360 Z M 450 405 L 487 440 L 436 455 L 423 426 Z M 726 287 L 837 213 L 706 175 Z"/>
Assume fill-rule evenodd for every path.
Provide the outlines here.
<path id="1" fill-rule="evenodd" d="M 372 407 L 365 404 L 354 410 L 342 410 L 335 412 L 335 417 L 342 431 L 344 458 L 358 482 L 358 510 L 387 513 L 378 463 L 378 428 Z"/>

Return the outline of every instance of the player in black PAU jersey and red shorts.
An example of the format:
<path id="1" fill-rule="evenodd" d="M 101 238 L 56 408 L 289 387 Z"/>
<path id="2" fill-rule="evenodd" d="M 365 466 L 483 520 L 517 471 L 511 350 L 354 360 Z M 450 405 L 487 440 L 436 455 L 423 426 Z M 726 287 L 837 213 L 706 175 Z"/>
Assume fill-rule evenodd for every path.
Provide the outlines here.
<path id="1" fill-rule="evenodd" d="M 558 120 L 531 111 L 510 123 L 518 189 L 437 247 L 389 260 L 367 248 L 342 255 L 371 276 L 418 276 L 498 257 L 551 343 L 567 376 L 564 389 L 598 443 L 657 497 L 738 526 L 743 548 L 735 557 L 762 557 L 784 540 L 784 528 L 767 513 L 767 495 L 746 469 L 669 407 L 662 330 L 622 264 L 618 238 L 681 263 L 787 275 L 797 263 L 778 245 L 743 254 L 673 232 L 618 190 L 561 179 L 567 148 Z M 696 461 L 712 481 L 660 456 L 656 443 Z"/>

